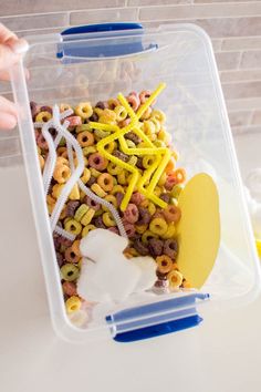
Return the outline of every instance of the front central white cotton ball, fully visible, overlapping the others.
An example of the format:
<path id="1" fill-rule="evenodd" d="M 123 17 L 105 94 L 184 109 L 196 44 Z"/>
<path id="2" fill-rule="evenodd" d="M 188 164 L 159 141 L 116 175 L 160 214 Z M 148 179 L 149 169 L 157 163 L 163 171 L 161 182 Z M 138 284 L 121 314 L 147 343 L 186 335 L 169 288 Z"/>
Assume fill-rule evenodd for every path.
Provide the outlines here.
<path id="1" fill-rule="evenodd" d="M 134 292 L 140 279 L 142 269 L 123 255 L 109 254 L 103 262 L 97 262 L 94 278 L 96 285 L 115 301 L 124 301 Z"/>

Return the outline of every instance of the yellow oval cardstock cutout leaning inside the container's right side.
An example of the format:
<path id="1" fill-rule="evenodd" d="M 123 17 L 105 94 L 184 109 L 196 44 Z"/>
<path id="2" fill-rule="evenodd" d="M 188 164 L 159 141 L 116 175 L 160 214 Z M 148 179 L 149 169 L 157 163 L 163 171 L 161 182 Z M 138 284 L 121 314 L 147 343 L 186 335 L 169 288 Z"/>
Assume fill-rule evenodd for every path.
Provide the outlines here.
<path id="1" fill-rule="evenodd" d="M 194 176 L 182 189 L 178 206 L 178 268 L 199 289 L 213 268 L 220 244 L 219 197 L 212 178 L 203 173 Z"/>

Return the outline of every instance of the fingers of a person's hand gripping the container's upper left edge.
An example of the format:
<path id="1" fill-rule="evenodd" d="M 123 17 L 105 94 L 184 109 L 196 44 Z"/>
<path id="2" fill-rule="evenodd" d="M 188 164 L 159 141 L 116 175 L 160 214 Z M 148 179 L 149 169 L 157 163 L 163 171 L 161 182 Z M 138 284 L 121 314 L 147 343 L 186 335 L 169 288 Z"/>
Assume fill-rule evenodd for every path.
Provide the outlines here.
<path id="1" fill-rule="evenodd" d="M 9 80 L 9 68 L 27 51 L 28 43 L 0 23 L 0 80 Z M 0 130 L 17 125 L 18 111 L 13 102 L 0 96 Z"/>

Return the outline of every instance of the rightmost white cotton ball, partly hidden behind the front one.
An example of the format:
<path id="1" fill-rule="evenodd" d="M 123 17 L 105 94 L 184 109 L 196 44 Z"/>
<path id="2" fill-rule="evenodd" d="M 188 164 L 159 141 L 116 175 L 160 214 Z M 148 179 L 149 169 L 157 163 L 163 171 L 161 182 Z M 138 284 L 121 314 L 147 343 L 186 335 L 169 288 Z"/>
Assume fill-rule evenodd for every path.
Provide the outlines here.
<path id="1" fill-rule="evenodd" d="M 135 257 L 129 261 L 137 266 L 142 271 L 140 279 L 138 280 L 137 286 L 135 287 L 135 292 L 140 292 L 150 289 L 157 280 L 157 265 L 155 260 L 152 257 L 145 256 Z"/>

